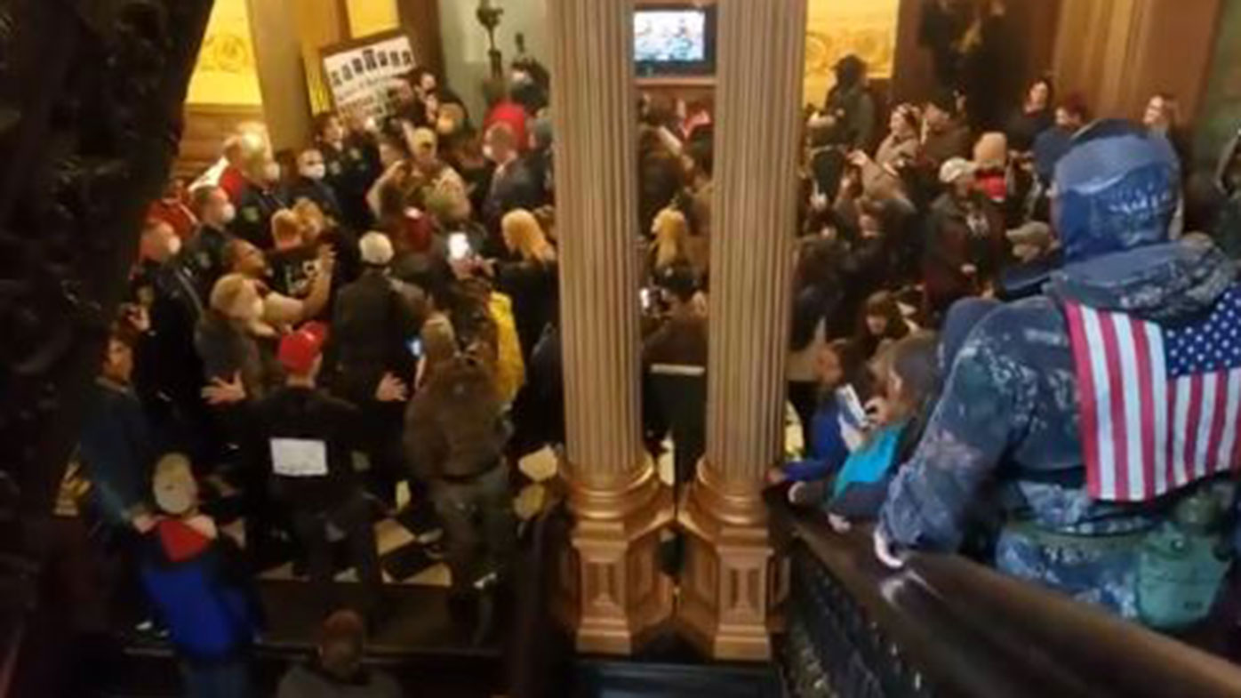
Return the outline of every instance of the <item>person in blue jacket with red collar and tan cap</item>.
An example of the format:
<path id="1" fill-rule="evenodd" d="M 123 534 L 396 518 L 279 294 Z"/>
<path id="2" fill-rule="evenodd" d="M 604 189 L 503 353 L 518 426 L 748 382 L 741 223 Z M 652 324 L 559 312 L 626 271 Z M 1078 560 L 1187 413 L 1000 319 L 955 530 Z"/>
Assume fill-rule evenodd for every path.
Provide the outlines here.
<path id="1" fill-rule="evenodd" d="M 139 524 L 146 538 L 140 575 L 180 659 L 186 696 L 254 696 L 249 651 L 259 612 L 236 545 L 199 510 L 185 456 L 164 456 L 151 489 L 160 514 Z"/>

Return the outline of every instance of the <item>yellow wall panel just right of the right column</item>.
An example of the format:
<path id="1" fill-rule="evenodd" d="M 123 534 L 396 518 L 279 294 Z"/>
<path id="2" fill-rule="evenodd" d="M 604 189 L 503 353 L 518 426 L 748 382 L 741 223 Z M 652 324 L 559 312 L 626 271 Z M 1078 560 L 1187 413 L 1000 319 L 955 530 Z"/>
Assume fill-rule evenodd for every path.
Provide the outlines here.
<path id="1" fill-rule="evenodd" d="M 831 67 L 856 53 L 871 77 L 891 77 L 900 0 L 807 0 L 803 102 L 822 104 L 835 82 Z"/>

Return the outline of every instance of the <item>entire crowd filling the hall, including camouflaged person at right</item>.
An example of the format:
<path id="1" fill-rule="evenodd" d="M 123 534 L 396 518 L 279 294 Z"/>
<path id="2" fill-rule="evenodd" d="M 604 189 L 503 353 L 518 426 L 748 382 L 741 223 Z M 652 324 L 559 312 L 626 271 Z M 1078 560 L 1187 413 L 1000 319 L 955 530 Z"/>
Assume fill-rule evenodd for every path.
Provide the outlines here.
<path id="1" fill-rule="evenodd" d="M 253 574 L 290 556 L 325 616 L 381 619 L 372 522 L 401 505 L 442 528 L 454 602 L 505 584 L 515 466 L 563 441 L 547 89 L 516 61 L 475 123 L 416 70 L 385 119 L 320 114 L 293 152 L 238 133 L 151 205 L 79 460 L 87 515 L 139 570 L 192 694 L 247 694 Z M 877 520 L 891 564 L 964 546 L 1160 625 L 1133 590 L 1162 543 L 1138 533 L 1194 502 L 1210 527 L 1176 533 L 1216 540 L 1231 493 L 1193 478 L 1132 507 L 1091 499 L 1061 302 L 1196 322 L 1235 270 L 1181 232 L 1237 246 L 1241 153 L 1206 216 L 1183 195 L 1193 161 L 1172 96 L 1140 127 L 1088 125 L 1083 99 L 1040 77 L 997 109 L 968 89 L 881 109 L 854 56 L 807 109 L 788 356 L 804 452 L 769 479 L 838 529 Z M 660 400 L 654 376 L 706 366 L 711 104 L 643 96 L 639 114 L 644 436 L 659 455 L 673 433 L 685 482 L 702 438 L 680 412 L 705 406 Z M 240 546 L 215 519 L 231 491 Z M 1113 535 L 1132 544 L 1098 543 Z M 361 599 L 333 584 L 334 539 Z M 360 668 L 362 623 L 329 616 L 315 664 L 284 686 L 365 678 L 393 694 Z"/>

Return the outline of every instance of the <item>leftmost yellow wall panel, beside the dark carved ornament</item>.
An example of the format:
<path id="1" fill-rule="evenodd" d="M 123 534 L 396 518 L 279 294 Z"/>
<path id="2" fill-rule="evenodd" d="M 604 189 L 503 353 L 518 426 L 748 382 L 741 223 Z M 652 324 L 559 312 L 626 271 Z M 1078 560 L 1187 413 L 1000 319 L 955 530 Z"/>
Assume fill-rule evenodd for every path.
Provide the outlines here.
<path id="1" fill-rule="evenodd" d="M 186 102 L 246 107 L 263 103 L 246 0 L 216 0 Z"/>

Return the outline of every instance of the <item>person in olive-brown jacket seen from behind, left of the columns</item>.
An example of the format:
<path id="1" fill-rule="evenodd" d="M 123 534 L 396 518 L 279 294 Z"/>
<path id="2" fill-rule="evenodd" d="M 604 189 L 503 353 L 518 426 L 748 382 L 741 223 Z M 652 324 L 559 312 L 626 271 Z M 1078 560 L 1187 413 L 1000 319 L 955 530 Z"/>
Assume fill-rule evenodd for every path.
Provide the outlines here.
<path id="1" fill-rule="evenodd" d="M 422 344 L 422 388 L 406 414 L 405 450 L 416 474 L 431 483 L 453 597 L 468 602 L 504 580 L 514 549 L 509 427 L 493 376 L 458 350 L 446 318 L 427 323 Z"/>

